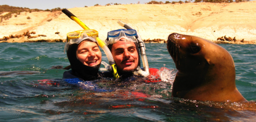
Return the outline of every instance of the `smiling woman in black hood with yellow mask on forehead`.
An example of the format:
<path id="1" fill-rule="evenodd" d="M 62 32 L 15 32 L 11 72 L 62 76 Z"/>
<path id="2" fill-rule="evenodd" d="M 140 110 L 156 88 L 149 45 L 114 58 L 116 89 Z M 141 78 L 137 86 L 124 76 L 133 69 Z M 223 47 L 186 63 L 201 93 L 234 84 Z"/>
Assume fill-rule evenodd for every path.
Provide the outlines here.
<path id="1" fill-rule="evenodd" d="M 95 80 L 102 77 L 113 77 L 110 72 L 99 72 L 102 53 L 96 42 L 96 37 L 98 37 L 98 32 L 93 29 L 67 33 L 65 50 L 71 70 L 64 72 L 64 79 Z"/>

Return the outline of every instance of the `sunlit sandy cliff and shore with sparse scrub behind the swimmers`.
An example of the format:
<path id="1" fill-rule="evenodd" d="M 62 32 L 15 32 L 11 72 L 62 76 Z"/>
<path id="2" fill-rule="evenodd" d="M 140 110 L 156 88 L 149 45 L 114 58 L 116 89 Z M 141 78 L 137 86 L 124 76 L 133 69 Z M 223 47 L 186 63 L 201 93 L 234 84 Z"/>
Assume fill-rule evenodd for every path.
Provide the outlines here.
<path id="1" fill-rule="evenodd" d="M 166 43 L 171 33 L 194 35 L 214 43 L 256 44 L 256 1 L 150 1 L 145 4 L 108 3 L 70 8 L 103 40 L 107 32 L 128 23 L 145 43 Z M 65 42 L 66 33 L 82 28 L 61 8 L 30 9 L 0 6 L 0 43 Z"/>

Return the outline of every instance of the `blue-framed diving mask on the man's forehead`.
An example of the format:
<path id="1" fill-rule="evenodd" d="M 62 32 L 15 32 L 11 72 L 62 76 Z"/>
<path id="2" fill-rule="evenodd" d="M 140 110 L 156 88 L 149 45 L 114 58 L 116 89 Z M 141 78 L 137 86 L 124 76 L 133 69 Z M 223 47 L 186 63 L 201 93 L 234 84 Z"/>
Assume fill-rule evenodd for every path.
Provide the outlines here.
<path id="1" fill-rule="evenodd" d="M 108 37 L 107 40 L 105 40 L 105 42 L 107 45 L 114 44 L 122 38 L 125 38 L 130 42 L 137 42 L 136 37 L 137 32 L 134 29 L 117 29 L 108 32 Z"/>

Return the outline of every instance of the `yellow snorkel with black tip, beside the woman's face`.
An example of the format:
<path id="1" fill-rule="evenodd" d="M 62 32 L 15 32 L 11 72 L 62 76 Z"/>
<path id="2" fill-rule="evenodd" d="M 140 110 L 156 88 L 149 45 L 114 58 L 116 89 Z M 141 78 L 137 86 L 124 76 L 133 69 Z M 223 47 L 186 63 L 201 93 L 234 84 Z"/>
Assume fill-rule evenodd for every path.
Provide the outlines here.
<path id="1" fill-rule="evenodd" d="M 82 21 L 80 21 L 80 19 L 78 19 L 73 13 L 71 13 L 67 9 L 62 9 L 62 12 L 65 13 L 67 17 L 69 17 L 70 19 L 78 23 L 83 29 L 90 29 Z M 112 72 L 112 74 L 114 75 L 114 78 L 119 78 L 119 75 L 117 73 L 117 67 L 115 65 L 115 60 L 109 48 L 99 37 L 96 37 L 96 41 L 99 44 L 100 48 L 102 48 L 105 54 L 107 55 L 109 65 L 112 66 L 112 69 L 110 70 L 110 72 Z"/>

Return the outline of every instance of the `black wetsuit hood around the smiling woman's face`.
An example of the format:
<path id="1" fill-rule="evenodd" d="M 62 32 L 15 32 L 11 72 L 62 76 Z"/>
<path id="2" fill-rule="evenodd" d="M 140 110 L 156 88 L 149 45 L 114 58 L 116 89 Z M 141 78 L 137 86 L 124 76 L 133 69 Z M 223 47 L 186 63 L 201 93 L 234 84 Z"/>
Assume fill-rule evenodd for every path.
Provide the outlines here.
<path id="1" fill-rule="evenodd" d="M 69 59 L 72 74 L 76 77 L 82 78 L 83 80 L 94 80 L 100 77 L 98 74 L 100 64 L 95 65 L 94 67 L 89 67 L 81 63 L 76 57 L 76 50 L 78 49 L 79 44 L 71 44 L 69 45 L 69 49 L 67 50 L 67 58 Z"/>

